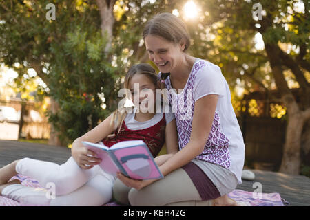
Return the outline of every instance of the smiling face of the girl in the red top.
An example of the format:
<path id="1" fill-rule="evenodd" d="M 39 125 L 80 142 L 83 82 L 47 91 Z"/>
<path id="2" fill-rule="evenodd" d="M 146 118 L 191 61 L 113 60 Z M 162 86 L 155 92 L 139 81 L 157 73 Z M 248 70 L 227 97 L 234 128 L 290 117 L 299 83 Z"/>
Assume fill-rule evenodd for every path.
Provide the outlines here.
<path id="1" fill-rule="evenodd" d="M 147 108 L 147 111 L 154 112 L 156 85 L 152 83 L 152 80 L 144 74 L 134 74 L 130 80 L 129 89 L 132 94 L 132 102 L 136 107 Z M 149 104 L 151 105 L 149 106 Z"/>

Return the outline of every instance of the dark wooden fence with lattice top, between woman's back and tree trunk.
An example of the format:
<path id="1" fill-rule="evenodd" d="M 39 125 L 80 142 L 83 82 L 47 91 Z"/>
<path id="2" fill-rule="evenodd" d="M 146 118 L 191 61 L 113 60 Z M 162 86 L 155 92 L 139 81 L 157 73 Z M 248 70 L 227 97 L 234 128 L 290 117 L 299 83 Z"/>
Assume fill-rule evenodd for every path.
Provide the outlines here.
<path id="1" fill-rule="evenodd" d="M 291 89 L 301 106 L 298 89 Z M 260 170 L 278 171 L 287 128 L 286 107 L 277 91 L 245 95 L 238 121 L 245 140 L 245 159 Z"/>

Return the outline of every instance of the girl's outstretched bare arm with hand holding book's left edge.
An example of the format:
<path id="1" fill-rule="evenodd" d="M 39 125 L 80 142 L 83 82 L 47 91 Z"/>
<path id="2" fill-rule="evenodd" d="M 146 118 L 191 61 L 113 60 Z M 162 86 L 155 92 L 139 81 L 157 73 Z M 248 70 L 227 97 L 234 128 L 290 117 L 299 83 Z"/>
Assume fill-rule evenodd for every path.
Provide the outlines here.
<path id="1" fill-rule="evenodd" d="M 103 140 L 107 135 L 110 135 L 115 130 L 114 123 L 110 123 L 111 118 L 112 116 L 110 115 L 103 122 L 94 127 L 94 129 L 88 131 L 85 135 L 76 138 L 72 143 L 72 157 L 81 168 L 85 170 L 90 169 L 101 162 L 101 159 L 96 158 L 96 154 L 83 146 L 82 142 L 87 141 L 96 143 Z"/>

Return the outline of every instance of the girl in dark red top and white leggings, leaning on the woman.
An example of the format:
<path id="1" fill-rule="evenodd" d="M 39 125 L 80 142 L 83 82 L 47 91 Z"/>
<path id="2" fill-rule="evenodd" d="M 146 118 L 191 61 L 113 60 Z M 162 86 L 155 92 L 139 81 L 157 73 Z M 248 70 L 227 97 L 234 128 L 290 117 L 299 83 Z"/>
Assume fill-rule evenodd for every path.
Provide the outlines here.
<path id="1" fill-rule="evenodd" d="M 134 89 L 136 85 L 138 91 Z M 174 115 L 154 112 L 156 98 L 153 100 L 149 98 L 155 95 L 157 85 L 157 76 L 150 65 L 138 64 L 131 67 L 125 76 L 125 89 L 130 89 L 132 92 L 131 99 L 134 103 L 138 100 L 133 109 L 122 107 L 114 111 L 101 124 L 74 140 L 72 157 L 65 164 L 59 166 L 51 162 L 24 158 L 4 166 L 0 169 L 0 195 L 41 206 L 101 206 L 110 201 L 115 177 L 101 170 L 98 165 L 100 159 L 96 158 L 94 152 L 87 150 L 82 141 L 103 140 L 103 144 L 112 146 L 123 140 L 143 140 L 156 157 L 166 137 L 167 153 L 176 153 L 178 139 Z M 143 92 L 146 89 L 149 91 L 147 95 Z M 125 94 L 130 98 L 128 97 L 130 94 Z M 148 104 L 153 107 L 144 113 L 142 107 L 148 107 Z M 123 110 L 133 111 L 126 113 Z M 110 135 L 113 132 L 114 135 Z M 108 135 L 110 136 L 107 137 Z M 165 157 L 167 155 L 156 157 L 155 162 L 161 164 Z M 46 196 L 47 189 L 22 186 L 17 181 L 8 182 L 17 174 L 37 179 L 40 186 L 54 184 L 56 197 Z"/>

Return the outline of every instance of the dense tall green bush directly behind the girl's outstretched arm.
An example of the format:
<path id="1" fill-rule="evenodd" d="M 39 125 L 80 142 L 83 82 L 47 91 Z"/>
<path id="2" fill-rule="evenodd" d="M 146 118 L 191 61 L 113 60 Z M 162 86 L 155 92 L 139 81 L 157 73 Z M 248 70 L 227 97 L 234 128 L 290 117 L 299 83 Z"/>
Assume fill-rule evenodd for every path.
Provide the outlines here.
<path id="1" fill-rule="evenodd" d="M 107 61 L 105 42 L 100 30 L 80 23 L 66 33 L 66 41 L 53 44 L 56 62 L 50 64 L 50 96 L 59 103 L 56 113 L 50 112 L 49 121 L 60 131 L 63 141 L 72 141 L 94 128 L 110 111 L 102 109 L 114 94 L 115 71 Z"/>

